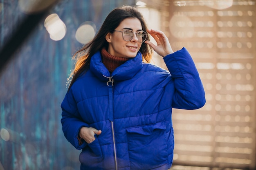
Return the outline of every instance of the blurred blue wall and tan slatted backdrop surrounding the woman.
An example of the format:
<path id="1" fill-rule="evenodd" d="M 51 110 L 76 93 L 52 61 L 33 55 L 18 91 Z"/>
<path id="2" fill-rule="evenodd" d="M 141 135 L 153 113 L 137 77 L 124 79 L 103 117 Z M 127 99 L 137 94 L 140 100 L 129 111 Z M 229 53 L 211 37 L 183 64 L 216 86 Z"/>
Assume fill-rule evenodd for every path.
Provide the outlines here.
<path id="1" fill-rule="evenodd" d="M 206 91 L 203 108 L 173 110 L 171 169 L 255 170 L 255 0 L 1 0 L 0 170 L 79 169 L 60 122 L 71 58 L 124 4 L 190 51 Z"/>

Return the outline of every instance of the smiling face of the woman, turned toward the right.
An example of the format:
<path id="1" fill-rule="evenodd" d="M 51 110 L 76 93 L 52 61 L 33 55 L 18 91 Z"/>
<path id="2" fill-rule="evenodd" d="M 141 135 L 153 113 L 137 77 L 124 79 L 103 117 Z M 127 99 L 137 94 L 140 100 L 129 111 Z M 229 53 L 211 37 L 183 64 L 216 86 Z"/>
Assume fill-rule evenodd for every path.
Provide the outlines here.
<path id="1" fill-rule="evenodd" d="M 108 33 L 106 40 L 108 41 L 108 53 L 116 57 L 132 58 L 135 57 L 141 47 L 141 42 L 138 41 L 134 34 L 130 41 L 125 41 L 123 33 L 126 29 L 132 30 L 134 33 L 142 31 L 142 26 L 138 18 L 124 19 L 113 33 Z"/>

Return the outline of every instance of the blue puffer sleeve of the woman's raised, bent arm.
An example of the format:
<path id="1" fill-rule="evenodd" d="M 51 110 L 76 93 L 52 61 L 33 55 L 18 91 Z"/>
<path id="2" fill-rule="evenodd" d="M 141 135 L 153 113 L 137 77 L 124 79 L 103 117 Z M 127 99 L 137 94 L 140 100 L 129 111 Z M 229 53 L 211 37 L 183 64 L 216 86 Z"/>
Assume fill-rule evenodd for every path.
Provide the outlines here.
<path id="1" fill-rule="evenodd" d="M 204 88 L 189 52 L 182 48 L 164 57 L 164 62 L 174 79 L 172 107 L 189 110 L 204 106 Z"/>

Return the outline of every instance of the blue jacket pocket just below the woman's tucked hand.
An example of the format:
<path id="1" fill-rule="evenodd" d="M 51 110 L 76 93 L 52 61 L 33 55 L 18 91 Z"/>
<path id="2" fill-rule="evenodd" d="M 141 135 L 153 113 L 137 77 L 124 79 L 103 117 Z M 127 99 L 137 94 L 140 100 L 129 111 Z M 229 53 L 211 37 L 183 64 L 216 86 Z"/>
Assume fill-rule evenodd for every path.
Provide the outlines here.
<path id="1" fill-rule="evenodd" d="M 83 167 L 102 167 L 103 156 L 101 146 L 97 138 L 92 143 L 87 144 L 87 146 L 83 148 L 81 154 L 79 155 L 79 161 Z"/>

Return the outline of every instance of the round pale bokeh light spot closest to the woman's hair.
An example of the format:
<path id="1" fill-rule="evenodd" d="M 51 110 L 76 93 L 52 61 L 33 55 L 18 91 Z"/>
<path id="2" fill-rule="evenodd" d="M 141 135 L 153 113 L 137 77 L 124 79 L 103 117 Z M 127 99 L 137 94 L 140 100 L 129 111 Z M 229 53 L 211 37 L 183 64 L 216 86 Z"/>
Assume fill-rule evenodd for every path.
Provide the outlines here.
<path id="1" fill-rule="evenodd" d="M 96 31 L 96 25 L 93 22 L 83 22 L 76 30 L 76 40 L 81 44 L 86 44 L 94 38 Z"/>

